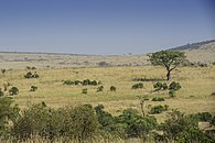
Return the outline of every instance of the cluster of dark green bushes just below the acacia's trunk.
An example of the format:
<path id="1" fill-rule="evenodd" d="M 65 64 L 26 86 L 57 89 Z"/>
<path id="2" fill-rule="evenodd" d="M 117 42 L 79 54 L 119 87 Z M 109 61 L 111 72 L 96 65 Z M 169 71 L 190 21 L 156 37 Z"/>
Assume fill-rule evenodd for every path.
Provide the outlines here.
<path id="1" fill-rule="evenodd" d="M 176 81 L 172 81 L 169 86 L 166 82 L 155 82 L 153 85 L 153 88 L 154 88 L 154 91 L 160 91 L 160 90 L 169 90 L 169 95 L 170 97 L 175 97 L 175 92 L 181 89 L 181 85 L 180 82 L 176 82 Z"/>

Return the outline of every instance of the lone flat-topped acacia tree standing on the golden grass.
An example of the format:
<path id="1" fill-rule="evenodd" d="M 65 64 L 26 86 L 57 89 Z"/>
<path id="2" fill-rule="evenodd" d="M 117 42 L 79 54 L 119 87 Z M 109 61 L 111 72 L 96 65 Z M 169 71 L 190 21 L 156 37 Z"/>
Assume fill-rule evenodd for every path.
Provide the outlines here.
<path id="1" fill-rule="evenodd" d="M 166 79 L 170 80 L 170 73 L 182 64 L 186 56 L 180 51 L 160 51 L 148 55 L 150 62 L 154 66 L 164 66 L 168 70 Z"/>

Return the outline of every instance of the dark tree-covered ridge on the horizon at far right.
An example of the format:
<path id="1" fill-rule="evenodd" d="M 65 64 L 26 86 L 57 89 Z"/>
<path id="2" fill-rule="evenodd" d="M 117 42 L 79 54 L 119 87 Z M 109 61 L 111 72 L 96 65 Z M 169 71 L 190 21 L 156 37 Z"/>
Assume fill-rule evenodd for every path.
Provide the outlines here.
<path id="1" fill-rule="evenodd" d="M 173 48 L 169 48 L 169 51 L 197 50 L 197 48 L 202 47 L 203 45 L 209 44 L 212 42 L 215 42 L 215 40 L 203 41 L 203 42 L 191 43 L 191 44 L 189 43 L 189 44 L 183 45 L 183 46 L 176 46 Z"/>

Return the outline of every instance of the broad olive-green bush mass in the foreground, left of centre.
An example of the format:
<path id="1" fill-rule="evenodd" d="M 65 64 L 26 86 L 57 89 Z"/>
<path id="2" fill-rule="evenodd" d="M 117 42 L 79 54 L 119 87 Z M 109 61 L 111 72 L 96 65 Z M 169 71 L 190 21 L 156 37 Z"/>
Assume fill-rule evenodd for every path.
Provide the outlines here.
<path id="1" fill-rule="evenodd" d="M 54 110 L 44 103 L 39 103 L 22 113 L 14 123 L 12 133 L 20 140 L 36 134 L 51 141 L 64 138 L 82 142 L 90 140 L 96 134 L 97 128 L 97 118 L 90 105 Z"/>

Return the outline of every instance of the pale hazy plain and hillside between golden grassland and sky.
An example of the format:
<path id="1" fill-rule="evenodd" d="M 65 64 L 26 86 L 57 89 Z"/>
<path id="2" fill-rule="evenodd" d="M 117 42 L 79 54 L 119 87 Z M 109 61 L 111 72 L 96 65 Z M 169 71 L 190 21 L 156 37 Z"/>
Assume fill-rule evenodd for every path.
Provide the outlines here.
<path id="1" fill-rule="evenodd" d="M 194 63 L 212 64 L 215 62 L 215 42 L 200 42 L 171 48 L 184 51 L 187 59 Z M 8 53 L 0 52 L 0 67 L 6 69 L 24 69 L 26 66 L 36 68 L 67 68 L 104 66 L 144 66 L 149 65 L 147 54 L 140 55 L 75 55 L 52 53 Z"/>

